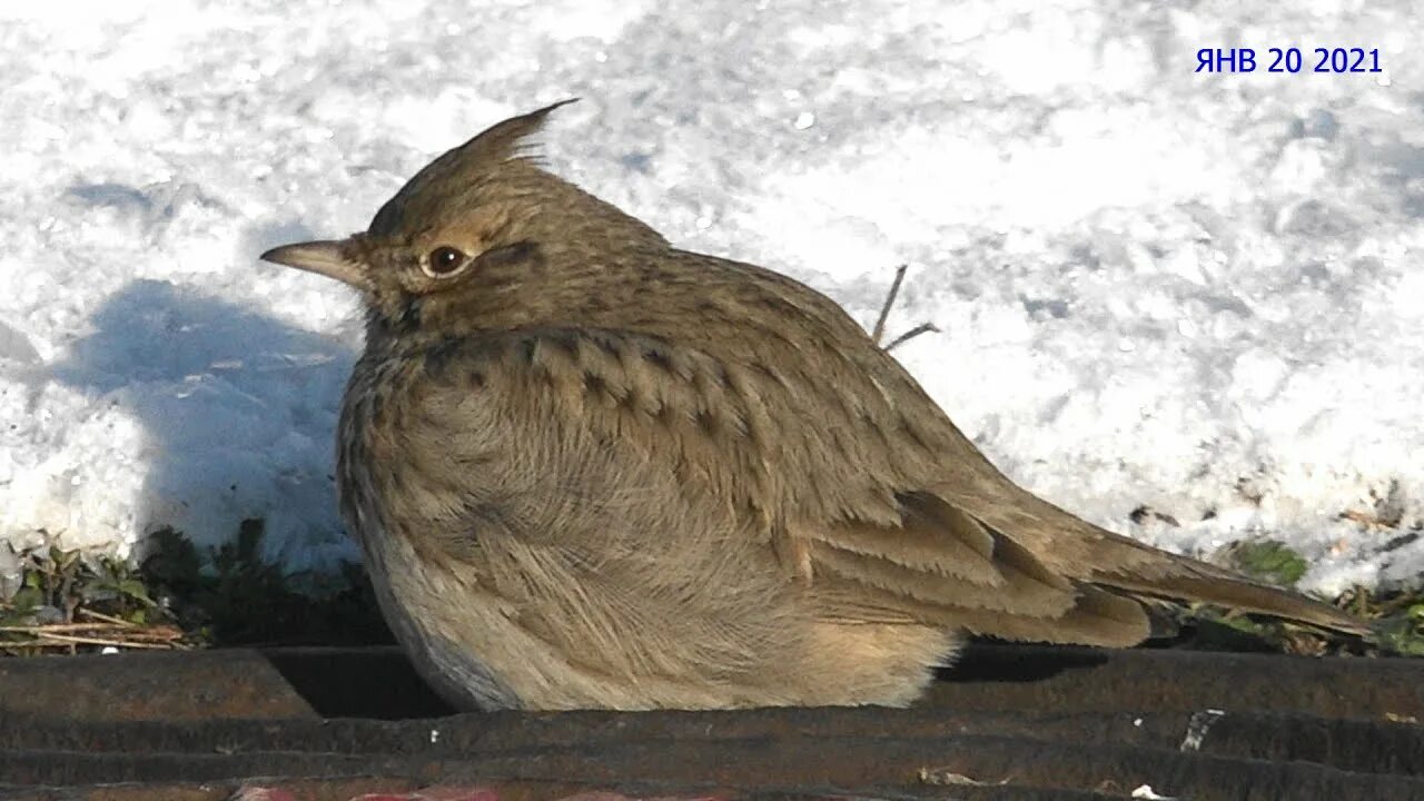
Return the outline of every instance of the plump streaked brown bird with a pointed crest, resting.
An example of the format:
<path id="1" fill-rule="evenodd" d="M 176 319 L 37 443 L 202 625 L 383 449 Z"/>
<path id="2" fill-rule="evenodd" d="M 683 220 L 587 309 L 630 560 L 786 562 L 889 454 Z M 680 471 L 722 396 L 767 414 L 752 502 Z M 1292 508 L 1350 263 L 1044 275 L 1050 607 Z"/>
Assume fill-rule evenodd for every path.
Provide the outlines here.
<path id="1" fill-rule="evenodd" d="M 1131 647 L 1158 599 L 1364 631 L 1017 486 L 834 301 L 555 175 L 567 103 L 261 257 L 360 295 L 339 507 L 454 707 L 903 707 L 970 637 Z"/>

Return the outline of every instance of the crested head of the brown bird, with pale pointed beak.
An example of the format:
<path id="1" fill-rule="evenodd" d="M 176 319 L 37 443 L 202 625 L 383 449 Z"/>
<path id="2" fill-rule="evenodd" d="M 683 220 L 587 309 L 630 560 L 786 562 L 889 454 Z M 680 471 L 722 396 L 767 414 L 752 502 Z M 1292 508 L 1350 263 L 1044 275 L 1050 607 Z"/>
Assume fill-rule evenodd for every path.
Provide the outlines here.
<path id="1" fill-rule="evenodd" d="M 547 322 L 577 305 L 578 292 L 601 291 L 619 252 L 666 247 L 531 157 L 528 137 L 567 103 L 506 120 L 436 158 L 365 232 L 262 258 L 359 289 L 377 336 Z"/>

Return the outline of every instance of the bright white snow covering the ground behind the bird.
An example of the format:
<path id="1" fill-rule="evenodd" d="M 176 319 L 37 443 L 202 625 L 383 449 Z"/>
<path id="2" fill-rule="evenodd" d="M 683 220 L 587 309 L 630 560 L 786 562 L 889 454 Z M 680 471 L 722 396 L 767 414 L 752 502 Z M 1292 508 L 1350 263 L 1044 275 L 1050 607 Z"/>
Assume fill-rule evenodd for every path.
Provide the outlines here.
<path id="1" fill-rule="evenodd" d="M 1417 31 L 1411 0 L 4 4 L 0 539 L 263 517 L 293 569 L 355 557 L 359 312 L 256 254 L 577 95 L 553 167 L 674 242 L 867 326 L 909 264 L 890 334 L 940 332 L 896 355 L 1028 487 L 1179 552 L 1284 540 L 1309 589 L 1417 586 Z M 1386 71 L 1265 73 L 1290 46 Z"/>

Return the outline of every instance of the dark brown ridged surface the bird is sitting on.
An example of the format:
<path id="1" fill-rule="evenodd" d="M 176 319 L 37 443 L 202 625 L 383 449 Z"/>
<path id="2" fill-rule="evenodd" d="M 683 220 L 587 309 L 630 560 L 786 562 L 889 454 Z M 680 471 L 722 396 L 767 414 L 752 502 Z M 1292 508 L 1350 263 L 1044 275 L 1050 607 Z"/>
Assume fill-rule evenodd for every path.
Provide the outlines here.
<path id="1" fill-rule="evenodd" d="M 1424 660 L 980 646 L 911 710 L 449 715 L 390 648 L 54 657 L 0 661 L 0 798 L 1424 800 L 1421 720 Z"/>

